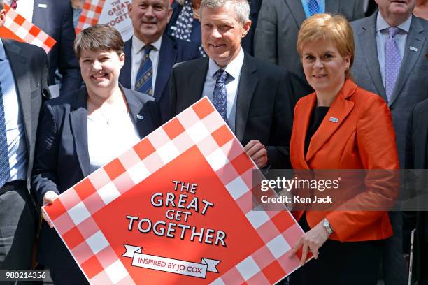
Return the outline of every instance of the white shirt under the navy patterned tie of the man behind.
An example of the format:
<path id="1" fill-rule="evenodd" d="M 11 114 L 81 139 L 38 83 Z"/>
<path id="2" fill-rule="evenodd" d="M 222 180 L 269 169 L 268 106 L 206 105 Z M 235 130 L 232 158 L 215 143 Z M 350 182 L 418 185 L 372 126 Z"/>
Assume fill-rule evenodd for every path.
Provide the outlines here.
<path id="1" fill-rule="evenodd" d="M 151 43 L 153 47 L 155 47 L 155 50 L 151 50 L 149 53 L 149 58 L 152 61 L 152 67 L 153 67 L 153 76 L 152 76 L 152 94 L 155 94 L 155 82 L 156 82 L 156 74 L 157 74 L 157 65 L 159 63 L 159 50 L 162 43 L 162 36 L 157 39 L 157 41 Z M 132 36 L 132 47 L 131 47 L 131 54 L 132 54 L 132 66 L 131 66 L 131 89 L 135 90 L 135 80 L 136 75 L 138 73 L 138 69 L 140 69 L 141 61 L 144 57 L 144 50 L 143 47 L 145 46 L 145 43 L 143 41 L 140 41 L 139 38 L 137 38 L 134 34 Z"/>

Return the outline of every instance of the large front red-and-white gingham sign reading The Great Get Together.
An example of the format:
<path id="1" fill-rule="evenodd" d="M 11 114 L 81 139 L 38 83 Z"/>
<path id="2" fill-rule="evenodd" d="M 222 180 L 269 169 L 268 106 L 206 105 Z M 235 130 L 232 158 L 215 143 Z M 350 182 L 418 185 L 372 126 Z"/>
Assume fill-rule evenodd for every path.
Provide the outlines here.
<path id="1" fill-rule="evenodd" d="M 273 284 L 303 231 L 253 170 L 204 97 L 43 210 L 91 284 Z"/>

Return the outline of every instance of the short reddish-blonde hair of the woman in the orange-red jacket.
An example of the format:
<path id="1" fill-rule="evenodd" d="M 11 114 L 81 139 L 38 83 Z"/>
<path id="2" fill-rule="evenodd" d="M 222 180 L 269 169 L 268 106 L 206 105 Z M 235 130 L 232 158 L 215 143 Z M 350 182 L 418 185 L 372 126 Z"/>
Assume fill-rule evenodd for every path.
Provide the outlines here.
<path id="1" fill-rule="evenodd" d="M 304 45 L 314 41 L 333 42 L 342 57 L 350 56 L 349 68 L 351 68 L 355 54 L 354 33 L 345 17 L 330 14 L 315 14 L 308 17 L 301 24 L 297 35 L 297 51 L 300 56 Z M 346 75 L 350 75 L 349 71 Z"/>

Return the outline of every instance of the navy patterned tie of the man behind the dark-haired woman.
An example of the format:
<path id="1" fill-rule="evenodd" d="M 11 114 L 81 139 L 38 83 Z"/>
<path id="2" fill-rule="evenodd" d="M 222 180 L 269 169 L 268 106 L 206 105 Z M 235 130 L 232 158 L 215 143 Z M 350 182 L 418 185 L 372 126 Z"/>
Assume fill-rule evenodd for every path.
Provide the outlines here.
<path id="1" fill-rule="evenodd" d="M 135 89 L 138 92 L 148 94 L 153 96 L 153 66 L 152 61 L 150 60 L 149 54 L 150 51 L 155 47 L 152 45 L 145 45 L 143 60 L 141 61 L 140 69 L 136 75 L 135 80 Z"/>

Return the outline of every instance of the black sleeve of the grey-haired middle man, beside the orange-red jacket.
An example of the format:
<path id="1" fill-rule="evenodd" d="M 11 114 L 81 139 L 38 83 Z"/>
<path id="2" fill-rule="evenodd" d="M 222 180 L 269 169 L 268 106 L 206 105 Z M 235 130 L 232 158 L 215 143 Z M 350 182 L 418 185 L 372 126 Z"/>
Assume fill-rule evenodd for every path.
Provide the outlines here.
<path id="1" fill-rule="evenodd" d="M 295 105 L 290 73 L 285 71 L 276 90 L 269 145 L 266 147 L 271 168 L 290 169 L 290 138 Z"/>

